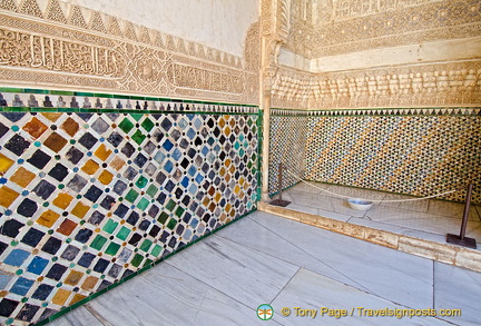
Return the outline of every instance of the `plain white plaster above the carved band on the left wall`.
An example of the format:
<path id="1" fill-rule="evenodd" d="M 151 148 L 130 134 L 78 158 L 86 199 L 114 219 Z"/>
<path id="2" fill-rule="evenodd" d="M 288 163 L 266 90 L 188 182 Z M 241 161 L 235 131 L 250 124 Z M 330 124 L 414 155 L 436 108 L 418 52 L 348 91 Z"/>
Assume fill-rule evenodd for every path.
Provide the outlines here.
<path id="1" fill-rule="evenodd" d="M 129 20 L 234 56 L 244 53 L 259 0 L 61 0 Z"/>

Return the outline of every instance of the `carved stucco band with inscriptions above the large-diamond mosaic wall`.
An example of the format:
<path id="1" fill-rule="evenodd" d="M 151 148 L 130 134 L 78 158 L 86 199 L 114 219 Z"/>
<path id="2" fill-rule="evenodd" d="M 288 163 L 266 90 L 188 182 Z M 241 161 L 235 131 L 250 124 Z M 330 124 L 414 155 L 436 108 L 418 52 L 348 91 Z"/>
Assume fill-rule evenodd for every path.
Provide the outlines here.
<path id="1" fill-rule="evenodd" d="M 258 40 L 254 22 L 238 56 L 59 0 L 4 0 L 0 83 L 257 103 Z"/>

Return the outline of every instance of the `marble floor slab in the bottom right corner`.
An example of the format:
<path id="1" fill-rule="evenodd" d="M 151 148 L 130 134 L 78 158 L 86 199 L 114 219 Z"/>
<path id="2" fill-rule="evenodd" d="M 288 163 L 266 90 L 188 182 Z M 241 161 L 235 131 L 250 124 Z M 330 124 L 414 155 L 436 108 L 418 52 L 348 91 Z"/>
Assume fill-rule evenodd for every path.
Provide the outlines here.
<path id="1" fill-rule="evenodd" d="M 443 317 L 459 325 L 481 325 L 481 274 L 434 263 L 434 305 L 436 309 L 461 308 L 461 317 Z"/>

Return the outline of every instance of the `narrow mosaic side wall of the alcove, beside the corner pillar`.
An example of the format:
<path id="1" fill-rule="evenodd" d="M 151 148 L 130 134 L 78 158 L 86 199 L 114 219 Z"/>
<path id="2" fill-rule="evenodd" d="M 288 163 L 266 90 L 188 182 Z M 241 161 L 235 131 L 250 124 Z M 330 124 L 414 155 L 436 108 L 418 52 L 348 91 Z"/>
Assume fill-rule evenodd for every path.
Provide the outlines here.
<path id="1" fill-rule="evenodd" d="M 269 195 L 278 192 L 278 165 L 283 162 L 283 189 L 304 178 L 304 151 L 307 135 L 307 116 L 273 109 L 269 137 Z M 288 170 L 288 171 L 287 171 Z M 294 176 L 293 176 L 294 175 Z"/>

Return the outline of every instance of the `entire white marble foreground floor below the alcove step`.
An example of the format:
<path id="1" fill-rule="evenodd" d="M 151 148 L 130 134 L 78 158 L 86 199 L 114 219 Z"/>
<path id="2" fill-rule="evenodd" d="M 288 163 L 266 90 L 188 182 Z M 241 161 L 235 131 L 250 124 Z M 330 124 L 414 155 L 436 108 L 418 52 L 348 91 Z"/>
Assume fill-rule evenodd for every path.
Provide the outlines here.
<path id="1" fill-rule="evenodd" d="M 480 297 L 481 274 L 257 211 L 49 325 L 480 325 Z"/>

